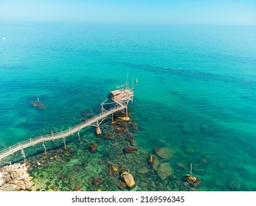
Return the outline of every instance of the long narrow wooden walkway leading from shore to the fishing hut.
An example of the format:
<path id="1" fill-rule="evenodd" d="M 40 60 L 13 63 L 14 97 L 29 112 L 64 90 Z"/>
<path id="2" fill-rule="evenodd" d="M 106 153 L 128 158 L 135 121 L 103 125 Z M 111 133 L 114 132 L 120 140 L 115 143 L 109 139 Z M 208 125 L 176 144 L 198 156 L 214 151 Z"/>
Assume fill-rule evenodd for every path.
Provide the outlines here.
<path id="1" fill-rule="evenodd" d="M 126 107 L 127 106 L 120 103 L 117 106 L 112 107 L 110 110 L 104 110 L 99 115 L 94 116 L 94 117 L 90 118 L 89 120 L 84 121 L 81 124 L 77 124 L 75 127 L 71 127 L 69 129 L 67 129 L 66 131 L 52 133 L 51 135 L 44 135 L 44 136 L 40 136 L 37 138 L 30 138 L 30 140 L 27 140 L 27 141 L 24 141 L 21 143 L 16 143 L 15 145 L 10 146 L 9 148 L 4 149 L 3 151 L 0 152 L 0 160 L 2 160 L 4 157 L 8 157 L 10 154 L 13 154 L 14 152 L 18 152 L 19 150 L 21 151 L 21 154 L 24 155 L 24 149 L 27 147 L 35 146 L 35 144 L 38 144 L 38 143 L 43 143 L 43 146 L 44 146 L 44 142 L 53 141 L 53 140 L 60 139 L 60 138 L 63 138 L 64 144 L 66 146 L 66 143 L 65 143 L 66 137 L 69 137 L 70 135 L 73 135 L 76 132 L 78 132 L 78 136 L 80 138 L 80 133 L 79 133 L 80 129 L 91 126 L 95 122 L 102 120 L 103 118 L 111 115 L 112 113 L 116 113 L 117 111 L 123 110 Z"/>

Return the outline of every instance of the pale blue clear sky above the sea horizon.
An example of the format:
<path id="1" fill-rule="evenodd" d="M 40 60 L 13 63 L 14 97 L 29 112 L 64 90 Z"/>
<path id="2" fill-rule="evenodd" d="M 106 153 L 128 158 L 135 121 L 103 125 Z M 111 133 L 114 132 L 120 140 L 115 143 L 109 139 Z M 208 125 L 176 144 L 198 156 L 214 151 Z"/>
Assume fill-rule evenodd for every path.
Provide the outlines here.
<path id="1" fill-rule="evenodd" d="M 0 0 L 8 22 L 256 25 L 256 0 Z"/>

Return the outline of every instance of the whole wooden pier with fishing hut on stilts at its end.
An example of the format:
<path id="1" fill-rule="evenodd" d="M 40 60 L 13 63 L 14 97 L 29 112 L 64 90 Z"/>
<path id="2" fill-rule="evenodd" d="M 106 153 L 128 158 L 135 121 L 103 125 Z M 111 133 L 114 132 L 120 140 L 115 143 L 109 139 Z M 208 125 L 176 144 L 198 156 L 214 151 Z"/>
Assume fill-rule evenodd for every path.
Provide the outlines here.
<path id="1" fill-rule="evenodd" d="M 133 101 L 133 98 L 133 88 L 129 88 L 127 83 L 125 85 L 121 85 L 120 87 L 117 87 L 117 90 L 110 91 L 110 93 L 108 94 L 108 99 L 106 99 L 105 102 L 101 104 L 102 112 L 97 116 L 93 116 L 92 118 L 89 118 L 87 121 L 84 121 L 81 124 L 77 124 L 75 127 L 69 127 L 69 129 L 66 129 L 63 132 L 52 132 L 50 135 L 41 135 L 40 137 L 37 138 L 30 138 L 27 141 L 16 143 L 15 145 L 10 146 L 9 148 L 4 149 L 3 151 L 0 152 L 0 161 L 3 163 L 7 163 L 3 160 L 4 157 L 8 157 L 10 156 L 10 154 L 14 154 L 15 152 L 18 151 L 21 151 L 21 154 L 24 157 L 24 161 L 26 161 L 24 149 L 30 146 L 35 146 L 38 143 L 42 143 L 42 145 L 44 146 L 44 152 L 46 154 L 46 147 L 44 145 L 44 142 L 54 141 L 56 139 L 61 138 L 63 139 L 64 148 L 66 148 L 65 138 L 77 133 L 78 138 L 80 140 L 80 130 L 88 126 L 97 127 L 97 131 L 99 131 L 100 124 L 105 120 L 105 118 L 111 114 L 113 116 L 113 114 L 117 111 L 126 110 L 126 118 L 128 118 L 128 104 L 130 101 Z M 108 105 L 108 107 L 109 105 L 111 105 L 111 108 L 105 110 L 105 105 Z"/>

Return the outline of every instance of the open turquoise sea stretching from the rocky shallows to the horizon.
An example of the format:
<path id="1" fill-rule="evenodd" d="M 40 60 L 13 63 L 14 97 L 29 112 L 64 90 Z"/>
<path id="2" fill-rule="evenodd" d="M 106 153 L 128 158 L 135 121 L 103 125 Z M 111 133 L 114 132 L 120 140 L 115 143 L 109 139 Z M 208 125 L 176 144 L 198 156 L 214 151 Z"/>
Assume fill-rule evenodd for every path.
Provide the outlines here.
<path id="1" fill-rule="evenodd" d="M 0 150 L 99 112 L 128 72 L 139 150 L 174 149 L 173 178 L 193 163 L 200 191 L 256 191 L 256 27 L 1 24 L 0 36 Z"/>

